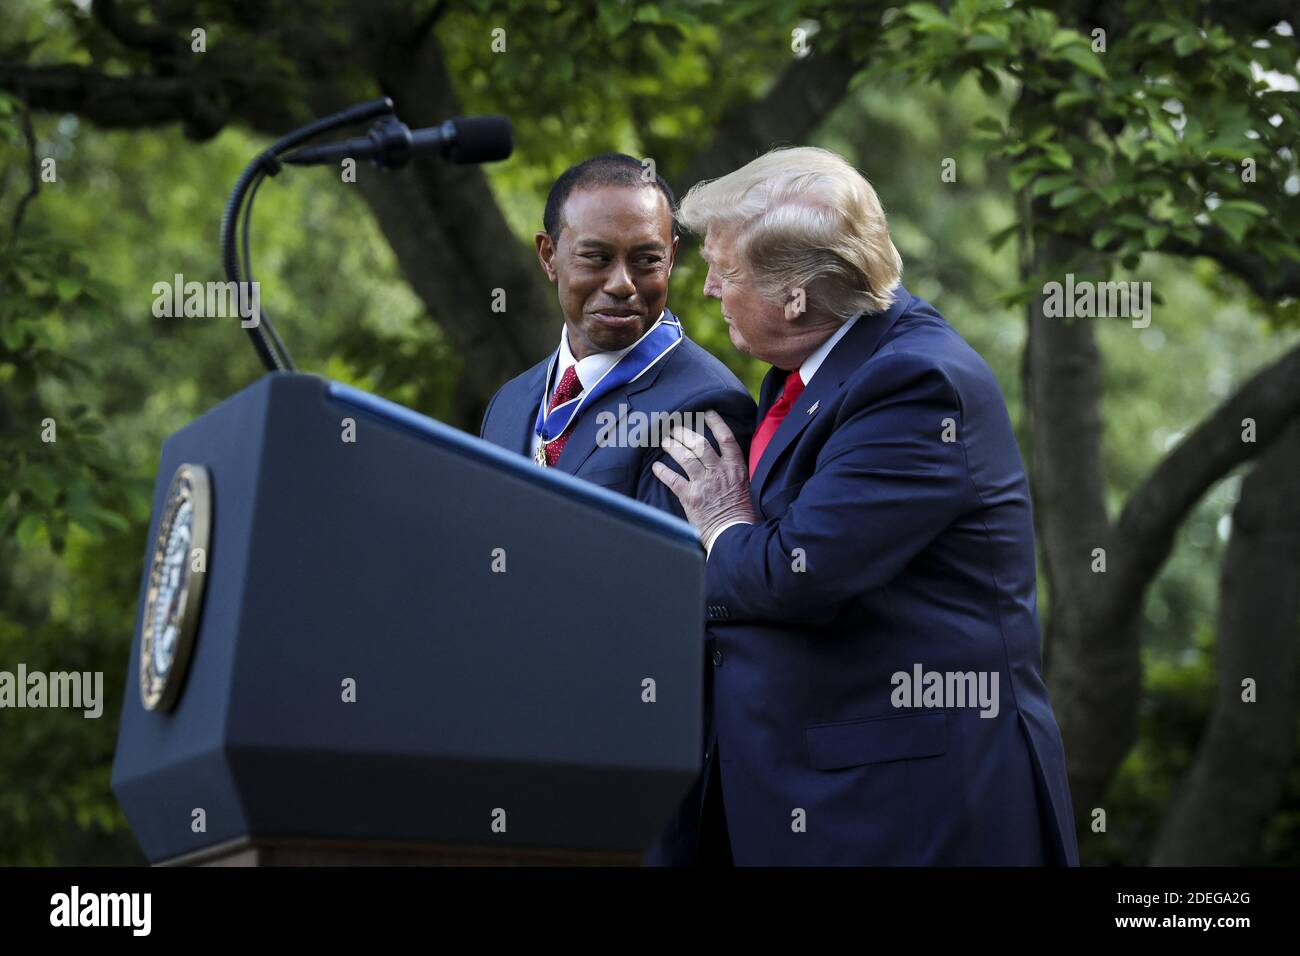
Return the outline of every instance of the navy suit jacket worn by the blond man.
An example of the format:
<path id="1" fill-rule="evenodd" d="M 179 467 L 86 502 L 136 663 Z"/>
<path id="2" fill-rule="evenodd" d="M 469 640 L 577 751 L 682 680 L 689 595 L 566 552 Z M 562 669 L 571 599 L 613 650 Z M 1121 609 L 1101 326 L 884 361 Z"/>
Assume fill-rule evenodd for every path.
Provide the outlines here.
<path id="1" fill-rule="evenodd" d="M 826 358 L 750 493 L 758 523 L 719 535 L 706 574 L 736 864 L 1076 865 L 1030 489 L 984 360 L 900 286 Z M 916 665 L 996 676 L 996 717 L 896 706 Z"/>

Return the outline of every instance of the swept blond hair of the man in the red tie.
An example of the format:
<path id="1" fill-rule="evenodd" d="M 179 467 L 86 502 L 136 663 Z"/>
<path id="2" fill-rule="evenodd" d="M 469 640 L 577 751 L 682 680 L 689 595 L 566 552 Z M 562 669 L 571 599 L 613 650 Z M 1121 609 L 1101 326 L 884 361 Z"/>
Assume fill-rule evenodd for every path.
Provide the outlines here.
<path id="1" fill-rule="evenodd" d="M 758 293 L 784 304 L 802 289 L 809 312 L 850 319 L 889 308 L 902 258 L 866 177 L 829 150 L 772 150 L 690 187 L 681 225 L 736 228 L 736 252 Z"/>

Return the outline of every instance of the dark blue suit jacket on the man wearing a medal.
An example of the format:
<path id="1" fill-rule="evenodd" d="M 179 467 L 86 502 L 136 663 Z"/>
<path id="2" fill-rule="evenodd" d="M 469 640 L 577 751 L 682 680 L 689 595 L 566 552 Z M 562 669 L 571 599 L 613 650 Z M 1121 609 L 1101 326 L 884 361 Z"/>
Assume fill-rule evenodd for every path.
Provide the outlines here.
<path id="1" fill-rule="evenodd" d="M 529 453 L 550 362 L 551 356 L 547 355 L 519 377 L 511 378 L 493 395 L 481 429 L 481 436 L 486 441 L 524 455 Z M 663 462 L 677 473 L 682 473 L 677 463 L 660 447 L 615 447 L 598 444 L 601 421 L 607 421 L 601 414 L 608 411 L 618 416 L 620 406 L 625 406 L 623 411 L 638 411 L 646 415 L 673 411 L 705 412 L 712 408 L 723 416 L 746 455 L 749 454 L 755 420 L 753 397 L 722 362 L 689 338 L 684 338 L 666 359 L 634 382 L 615 389 L 595 405 L 582 408 L 555 467 L 677 518 L 685 518 L 681 502 L 650 471 L 650 466 L 655 462 Z M 718 442 L 712 444 L 716 447 Z M 703 658 L 701 665 L 703 666 Z M 705 740 L 712 736 L 710 719 L 711 711 L 706 704 Z M 703 740 L 701 749 L 705 749 Z M 664 832 L 646 855 L 647 864 L 684 866 L 696 862 L 702 786 L 702 779 L 698 779 L 679 812 L 667 822 Z"/>

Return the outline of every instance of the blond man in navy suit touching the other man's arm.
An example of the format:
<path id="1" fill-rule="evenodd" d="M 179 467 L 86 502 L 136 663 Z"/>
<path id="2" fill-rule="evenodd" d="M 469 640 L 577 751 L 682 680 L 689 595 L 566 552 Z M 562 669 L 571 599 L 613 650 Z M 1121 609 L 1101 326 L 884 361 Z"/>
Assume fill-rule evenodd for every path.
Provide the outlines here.
<path id="1" fill-rule="evenodd" d="M 679 220 L 772 365 L 748 457 L 710 416 L 720 451 L 673 429 L 685 477 L 654 466 L 708 551 L 706 826 L 742 865 L 1076 865 L 993 373 L 832 152 L 768 152 Z"/>

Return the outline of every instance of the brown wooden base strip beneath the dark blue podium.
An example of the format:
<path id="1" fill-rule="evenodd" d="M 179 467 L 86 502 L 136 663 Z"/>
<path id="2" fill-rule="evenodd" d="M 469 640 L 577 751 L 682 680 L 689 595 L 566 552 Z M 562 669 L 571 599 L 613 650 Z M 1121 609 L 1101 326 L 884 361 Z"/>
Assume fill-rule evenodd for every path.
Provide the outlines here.
<path id="1" fill-rule="evenodd" d="M 157 866 L 640 866 L 627 851 L 346 843 L 312 838 L 243 836 Z"/>

